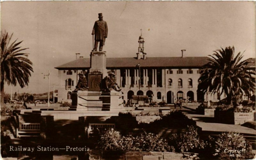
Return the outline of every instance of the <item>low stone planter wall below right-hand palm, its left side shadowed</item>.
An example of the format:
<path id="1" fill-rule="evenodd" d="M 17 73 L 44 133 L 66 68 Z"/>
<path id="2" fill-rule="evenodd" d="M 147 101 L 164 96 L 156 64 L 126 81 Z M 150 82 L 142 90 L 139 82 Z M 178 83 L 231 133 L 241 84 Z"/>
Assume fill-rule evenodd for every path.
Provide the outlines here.
<path id="1" fill-rule="evenodd" d="M 214 118 L 217 123 L 240 125 L 245 122 L 255 121 L 255 112 L 244 113 L 215 110 Z"/>

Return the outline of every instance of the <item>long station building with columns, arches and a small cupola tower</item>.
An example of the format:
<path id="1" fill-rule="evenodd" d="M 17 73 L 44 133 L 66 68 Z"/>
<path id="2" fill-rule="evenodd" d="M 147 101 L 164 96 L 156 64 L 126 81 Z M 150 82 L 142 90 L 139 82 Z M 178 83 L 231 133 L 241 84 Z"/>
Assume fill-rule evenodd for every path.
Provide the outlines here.
<path id="1" fill-rule="evenodd" d="M 106 60 L 106 68 L 115 73 L 116 83 L 126 102 L 132 95 L 148 95 L 154 102 L 167 103 L 174 103 L 177 99 L 208 101 L 209 98 L 213 102 L 220 99 L 218 95 L 197 92 L 201 68 L 208 63 L 209 57 L 184 57 L 186 50 L 181 50 L 180 57 L 147 57 L 142 35 L 138 42 L 136 57 Z M 80 57 L 55 68 L 59 70 L 58 102 L 71 102 L 77 74 L 83 72 L 88 78 L 90 58 Z"/>

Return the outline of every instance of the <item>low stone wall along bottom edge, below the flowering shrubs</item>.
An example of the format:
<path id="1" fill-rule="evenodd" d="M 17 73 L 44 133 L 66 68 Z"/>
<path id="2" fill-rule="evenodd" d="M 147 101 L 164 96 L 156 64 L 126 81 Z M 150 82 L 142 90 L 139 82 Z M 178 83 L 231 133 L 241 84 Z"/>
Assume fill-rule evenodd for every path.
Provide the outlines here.
<path id="1" fill-rule="evenodd" d="M 159 160 L 159 159 L 195 159 L 196 153 L 175 152 L 139 152 L 139 151 L 100 151 L 89 152 L 89 160 L 118 159 L 118 160 Z"/>

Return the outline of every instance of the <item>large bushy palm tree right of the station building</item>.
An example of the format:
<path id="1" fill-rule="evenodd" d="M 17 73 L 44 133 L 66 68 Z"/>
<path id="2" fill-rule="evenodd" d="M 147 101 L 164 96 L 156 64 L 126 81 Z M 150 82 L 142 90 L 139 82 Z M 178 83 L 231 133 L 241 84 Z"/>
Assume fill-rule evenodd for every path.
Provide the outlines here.
<path id="1" fill-rule="evenodd" d="M 225 50 L 214 51 L 209 62 L 203 66 L 199 78 L 198 90 L 206 93 L 225 93 L 228 104 L 239 94 L 250 95 L 255 90 L 255 72 L 252 72 L 247 64 L 249 59 L 241 60 L 243 54 L 240 52 L 235 56 L 235 48 L 226 47 Z"/>

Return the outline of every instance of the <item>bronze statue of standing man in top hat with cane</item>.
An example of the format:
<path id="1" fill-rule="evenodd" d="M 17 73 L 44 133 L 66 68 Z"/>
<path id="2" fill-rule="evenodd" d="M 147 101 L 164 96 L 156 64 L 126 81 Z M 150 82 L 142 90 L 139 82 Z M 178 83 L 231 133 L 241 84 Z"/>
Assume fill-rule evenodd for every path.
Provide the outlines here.
<path id="1" fill-rule="evenodd" d="M 97 51 L 98 42 L 100 42 L 99 48 L 100 51 L 102 51 L 105 39 L 108 37 L 108 25 L 107 22 L 103 20 L 102 13 L 99 13 L 99 20 L 94 23 L 92 35 L 94 34 L 94 48 L 92 51 Z"/>

